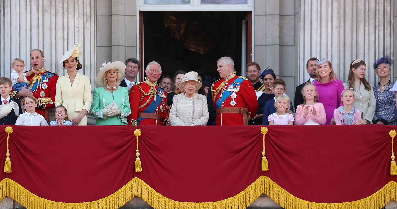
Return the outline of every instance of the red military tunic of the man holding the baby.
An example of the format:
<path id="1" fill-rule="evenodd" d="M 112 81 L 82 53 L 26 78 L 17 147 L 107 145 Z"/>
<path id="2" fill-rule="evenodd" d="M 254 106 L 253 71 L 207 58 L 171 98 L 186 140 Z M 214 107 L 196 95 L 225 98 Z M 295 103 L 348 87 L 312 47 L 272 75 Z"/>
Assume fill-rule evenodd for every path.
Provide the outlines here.
<path id="1" fill-rule="evenodd" d="M 39 100 L 39 106 L 36 107 L 35 111 L 44 116 L 46 120 L 48 119 L 48 111 L 45 111 L 45 109 L 55 108 L 54 101 L 58 78 L 58 75 L 46 71 L 45 68 L 40 69 L 37 75 L 33 74 L 26 77 L 33 96 Z"/>

